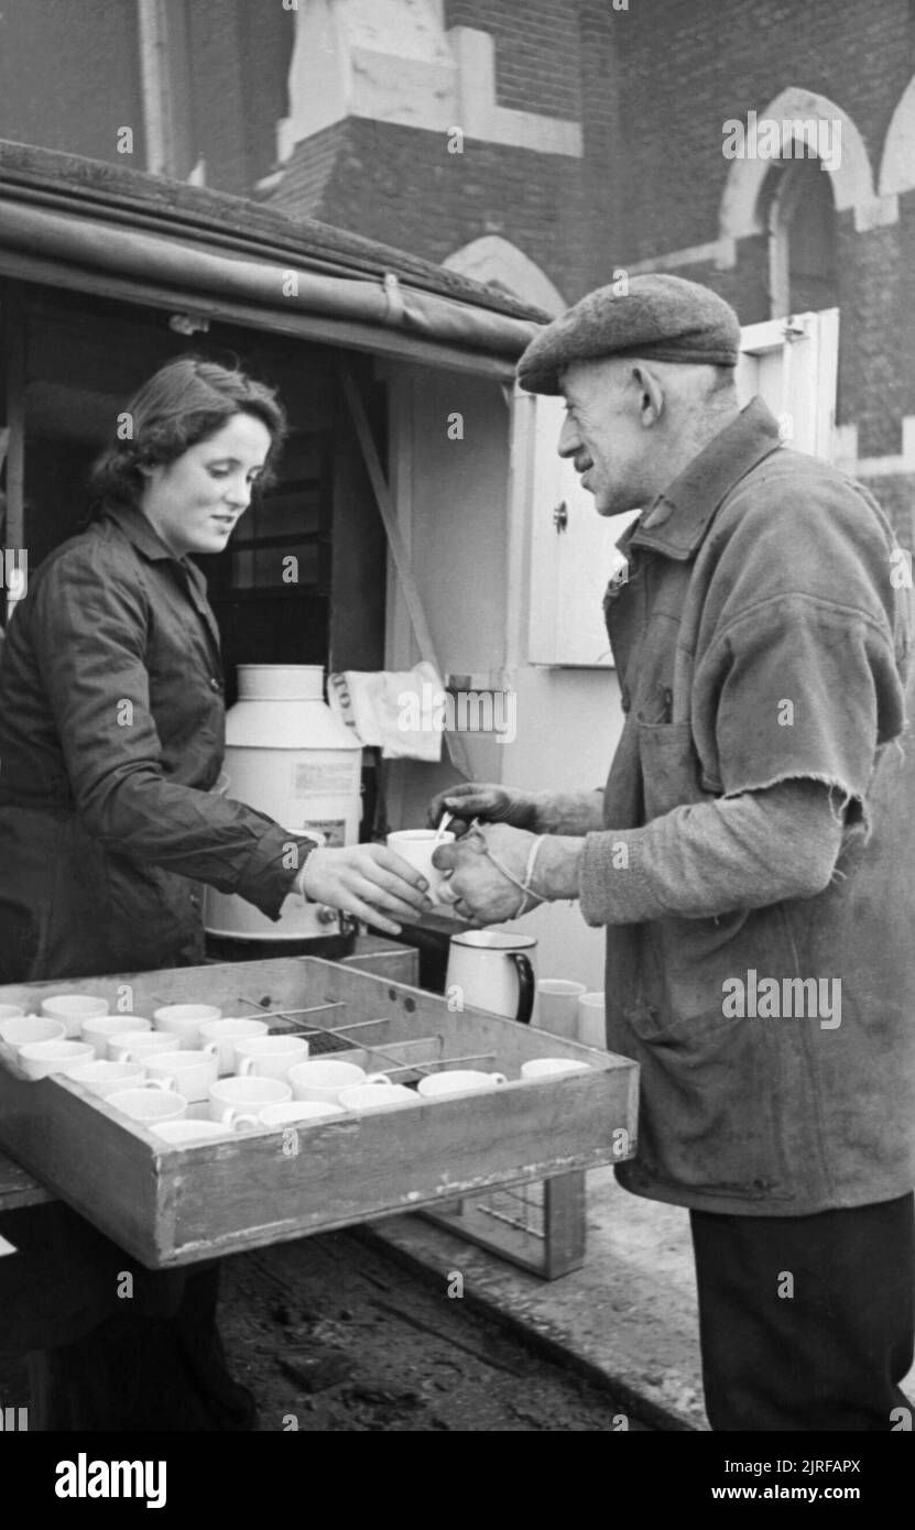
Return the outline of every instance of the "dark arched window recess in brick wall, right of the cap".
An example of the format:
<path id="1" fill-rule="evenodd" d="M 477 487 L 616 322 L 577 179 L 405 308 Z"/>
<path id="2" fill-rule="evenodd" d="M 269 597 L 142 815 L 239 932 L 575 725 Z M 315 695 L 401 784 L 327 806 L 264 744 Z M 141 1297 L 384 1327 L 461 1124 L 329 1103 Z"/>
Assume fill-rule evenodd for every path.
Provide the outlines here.
<path id="1" fill-rule="evenodd" d="M 838 304 L 832 176 L 819 159 L 790 159 L 771 171 L 768 210 L 771 317 Z"/>

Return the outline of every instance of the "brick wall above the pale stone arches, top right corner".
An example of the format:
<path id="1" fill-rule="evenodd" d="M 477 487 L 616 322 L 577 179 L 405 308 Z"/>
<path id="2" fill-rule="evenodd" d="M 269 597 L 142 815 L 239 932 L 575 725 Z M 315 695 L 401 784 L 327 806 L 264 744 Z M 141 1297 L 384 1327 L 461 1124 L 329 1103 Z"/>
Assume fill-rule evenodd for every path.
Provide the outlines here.
<path id="1" fill-rule="evenodd" d="M 630 259 L 718 234 L 722 122 L 786 86 L 854 119 L 872 165 L 915 73 L 907 0 L 632 0 L 607 26 L 620 50 Z"/>

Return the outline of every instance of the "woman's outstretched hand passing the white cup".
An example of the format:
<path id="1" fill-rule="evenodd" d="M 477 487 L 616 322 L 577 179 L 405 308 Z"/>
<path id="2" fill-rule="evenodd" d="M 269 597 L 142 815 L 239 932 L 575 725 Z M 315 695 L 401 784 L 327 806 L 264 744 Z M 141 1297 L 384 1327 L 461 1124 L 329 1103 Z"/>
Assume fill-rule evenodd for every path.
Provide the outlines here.
<path id="1" fill-rule="evenodd" d="M 320 846 L 308 857 L 297 887 L 312 903 L 355 913 L 389 935 L 401 933 L 395 918 L 415 920 L 431 909 L 422 872 L 386 845 Z"/>

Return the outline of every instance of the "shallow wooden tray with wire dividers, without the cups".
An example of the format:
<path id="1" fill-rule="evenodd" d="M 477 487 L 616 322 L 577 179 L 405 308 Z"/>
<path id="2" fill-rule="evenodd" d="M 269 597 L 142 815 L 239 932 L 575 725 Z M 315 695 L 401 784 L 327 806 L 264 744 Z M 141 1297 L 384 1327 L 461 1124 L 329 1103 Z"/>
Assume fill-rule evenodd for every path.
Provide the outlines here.
<path id="1" fill-rule="evenodd" d="M 433 1209 L 637 1149 L 629 1059 L 480 1010 L 454 1014 L 438 994 L 314 956 L 0 987 L 0 1004 L 37 1010 L 61 991 L 98 994 L 112 1011 L 127 991 L 147 1017 L 159 1004 L 217 1004 L 226 1016 L 314 1007 L 277 1014 L 271 1028 L 308 1027 L 312 1056 L 346 1056 L 401 1083 L 442 1066 L 510 1079 L 480 1094 L 177 1149 L 72 1079 L 17 1077 L 15 1054 L 0 1045 L 0 1143 L 150 1268 Z M 531 1057 L 591 1066 L 520 1082 Z"/>

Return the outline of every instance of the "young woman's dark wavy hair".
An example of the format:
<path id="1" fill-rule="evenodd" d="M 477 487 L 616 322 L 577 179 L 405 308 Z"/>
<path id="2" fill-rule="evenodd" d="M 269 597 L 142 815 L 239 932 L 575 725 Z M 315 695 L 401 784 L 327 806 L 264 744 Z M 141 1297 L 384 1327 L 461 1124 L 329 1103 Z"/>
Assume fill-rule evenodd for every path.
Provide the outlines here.
<path id="1" fill-rule="evenodd" d="M 136 505 L 144 485 L 141 468 L 168 467 L 236 415 L 254 415 L 271 435 L 257 480 L 263 491 L 286 438 L 286 412 L 275 392 L 239 367 L 220 367 L 204 356 L 177 356 L 159 367 L 118 418 L 130 439 L 109 447 L 92 470 L 89 517 L 109 506 Z"/>

